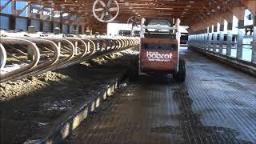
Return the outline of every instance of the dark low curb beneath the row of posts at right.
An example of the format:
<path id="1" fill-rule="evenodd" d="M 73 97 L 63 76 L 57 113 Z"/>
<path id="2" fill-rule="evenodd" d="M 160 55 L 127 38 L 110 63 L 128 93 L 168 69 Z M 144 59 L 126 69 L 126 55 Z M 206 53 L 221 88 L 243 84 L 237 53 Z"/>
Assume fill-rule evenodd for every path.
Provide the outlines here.
<path id="1" fill-rule="evenodd" d="M 190 46 L 189 49 L 197 51 L 200 54 L 205 55 L 206 57 L 214 58 L 218 62 L 222 62 L 227 66 L 231 66 L 234 69 L 241 70 L 242 72 L 249 74 L 252 77 L 256 78 L 256 64 L 252 62 L 242 61 L 237 58 L 231 58 L 226 55 L 206 51 L 199 49 L 197 47 Z"/>

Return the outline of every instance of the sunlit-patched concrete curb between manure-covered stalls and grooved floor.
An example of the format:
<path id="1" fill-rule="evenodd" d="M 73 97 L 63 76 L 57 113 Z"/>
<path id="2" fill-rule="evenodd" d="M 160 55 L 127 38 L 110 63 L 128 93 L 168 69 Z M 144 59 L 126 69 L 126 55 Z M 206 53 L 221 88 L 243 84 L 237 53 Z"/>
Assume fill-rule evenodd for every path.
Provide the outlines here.
<path id="1" fill-rule="evenodd" d="M 80 123 L 87 118 L 87 115 L 93 112 L 102 102 L 111 96 L 114 91 L 118 88 L 122 78 L 125 74 L 122 74 L 120 78 L 116 78 L 114 82 L 111 82 L 109 86 L 98 92 L 95 98 L 91 98 L 89 102 L 82 104 L 78 110 L 66 118 L 62 123 L 60 123 L 57 128 L 51 132 L 49 136 L 39 142 L 41 144 L 52 144 L 52 143 L 62 143 L 62 141 L 67 138 L 73 131 L 80 125 Z"/>

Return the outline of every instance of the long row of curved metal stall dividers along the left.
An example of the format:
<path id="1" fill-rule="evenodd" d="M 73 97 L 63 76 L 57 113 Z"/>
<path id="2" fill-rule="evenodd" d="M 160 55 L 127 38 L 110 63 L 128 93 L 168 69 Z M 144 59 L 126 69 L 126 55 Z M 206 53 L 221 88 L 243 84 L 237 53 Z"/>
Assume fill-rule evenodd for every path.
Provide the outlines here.
<path id="1" fill-rule="evenodd" d="M 0 82 L 57 70 L 138 46 L 139 38 L 0 38 Z"/>

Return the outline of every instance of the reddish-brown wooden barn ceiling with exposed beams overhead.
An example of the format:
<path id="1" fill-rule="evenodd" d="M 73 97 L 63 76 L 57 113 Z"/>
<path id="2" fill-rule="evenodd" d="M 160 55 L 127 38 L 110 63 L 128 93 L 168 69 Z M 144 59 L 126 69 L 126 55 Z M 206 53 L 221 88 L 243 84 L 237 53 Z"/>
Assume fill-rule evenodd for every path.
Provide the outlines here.
<path id="1" fill-rule="evenodd" d="M 106 1 L 106 0 L 102 0 Z M 211 15 L 229 12 L 234 6 L 243 6 L 244 1 L 256 0 L 117 0 L 120 13 L 116 22 L 127 22 L 134 14 L 149 18 L 180 18 L 183 26 L 194 22 L 204 22 Z M 88 23 L 97 22 L 92 14 L 94 0 L 26 0 L 34 5 L 60 10 L 63 13 L 77 14 Z"/>

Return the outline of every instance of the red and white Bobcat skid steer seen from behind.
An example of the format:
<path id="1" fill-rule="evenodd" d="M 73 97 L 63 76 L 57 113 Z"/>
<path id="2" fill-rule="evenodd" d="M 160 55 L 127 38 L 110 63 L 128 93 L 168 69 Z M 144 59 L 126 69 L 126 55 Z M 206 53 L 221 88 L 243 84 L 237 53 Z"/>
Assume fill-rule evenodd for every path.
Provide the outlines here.
<path id="1" fill-rule="evenodd" d="M 179 19 L 142 18 L 138 74 L 172 74 L 186 78 L 185 61 L 179 58 Z"/>

